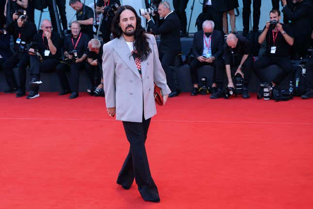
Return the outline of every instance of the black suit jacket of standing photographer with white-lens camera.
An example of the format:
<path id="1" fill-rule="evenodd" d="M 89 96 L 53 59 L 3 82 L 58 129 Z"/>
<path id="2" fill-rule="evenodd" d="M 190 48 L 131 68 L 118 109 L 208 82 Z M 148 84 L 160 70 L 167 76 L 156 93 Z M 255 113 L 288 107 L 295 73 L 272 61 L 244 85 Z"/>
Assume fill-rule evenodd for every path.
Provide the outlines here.
<path id="1" fill-rule="evenodd" d="M 148 21 L 154 34 L 161 35 L 160 52 L 181 53 L 181 23 L 175 12 L 169 14 L 158 27 L 152 20 Z"/>

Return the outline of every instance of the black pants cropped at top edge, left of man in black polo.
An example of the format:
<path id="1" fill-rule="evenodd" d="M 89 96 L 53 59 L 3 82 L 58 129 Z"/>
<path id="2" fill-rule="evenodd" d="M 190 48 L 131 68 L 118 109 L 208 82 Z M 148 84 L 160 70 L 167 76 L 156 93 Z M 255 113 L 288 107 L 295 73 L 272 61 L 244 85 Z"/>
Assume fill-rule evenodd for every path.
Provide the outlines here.
<path id="1" fill-rule="evenodd" d="M 59 14 L 61 16 L 61 22 L 63 26 L 63 30 L 67 30 L 67 20 L 66 20 L 66 0 L 55 0 L 56 6 L 58 6 Z M 56 25 L 55 14 L 53 10 L 52 0 L 47 1 L 47 5 L 49 8 L 49 14 L 51 19 L 51 24 L 53 27 L 53 31 L 58 31 L 58 27 Z"/>

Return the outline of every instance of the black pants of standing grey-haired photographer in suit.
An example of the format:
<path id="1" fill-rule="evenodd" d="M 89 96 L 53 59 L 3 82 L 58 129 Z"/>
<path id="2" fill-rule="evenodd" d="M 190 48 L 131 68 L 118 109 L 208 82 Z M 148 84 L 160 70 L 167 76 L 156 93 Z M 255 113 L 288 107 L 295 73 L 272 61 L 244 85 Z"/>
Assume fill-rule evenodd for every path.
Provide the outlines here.
<path id="1" fill-rule="evenodd" d="M 176 91 L 176 89 L 178 89 L 177 85 L 175 85 L 173 71 L 170 68 L 176 55 L 177 54 L 173 52 L 160 52 L 159 54 L 161 65 L 163 67 L 163 70 L 165 71 L 167 86 L 171 89 L 171 91 Z"/>

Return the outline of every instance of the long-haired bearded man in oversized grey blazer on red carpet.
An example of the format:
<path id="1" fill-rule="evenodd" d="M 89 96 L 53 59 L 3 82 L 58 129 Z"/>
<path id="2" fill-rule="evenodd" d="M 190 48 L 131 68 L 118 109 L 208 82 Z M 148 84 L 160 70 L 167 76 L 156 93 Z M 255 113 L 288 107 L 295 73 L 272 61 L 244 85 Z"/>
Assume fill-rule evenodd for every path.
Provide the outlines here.
<path id="1" fill-rule="evenodd" d="M 145 201 L 160 202 L 150 174 L 145 148 L 151 117 L 156 114 L 154 83 L 162 89 L 164 104 L 171 92 L 158 57 L 153 35 L 146 34 L 131 6 L 121 6 L 113 19 L 115 37 L 103 46 L 102 69 L 107 112 L 123 121 L 130 150 L 117 184 L 128 190 L 135 178 Z"/>

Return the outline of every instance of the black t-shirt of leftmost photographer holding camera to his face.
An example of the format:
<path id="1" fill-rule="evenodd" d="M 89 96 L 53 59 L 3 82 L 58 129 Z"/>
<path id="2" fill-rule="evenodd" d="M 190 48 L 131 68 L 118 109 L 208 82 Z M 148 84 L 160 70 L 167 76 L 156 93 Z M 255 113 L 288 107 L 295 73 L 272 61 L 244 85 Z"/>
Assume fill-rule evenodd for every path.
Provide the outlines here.
<path id="1" fill-rule="evenodd" d="M 37 34 L 37 28 L 33 22 L 26 21 L 22 27 L 18 27 L 17 21 L 13 21 L 8 25 L 7 32 L 13 35 L 14 46 L 16 48 L 18 47 L 16 43 L 17 38 L 29 44 L 33 40 L 33 36 Z"/>

